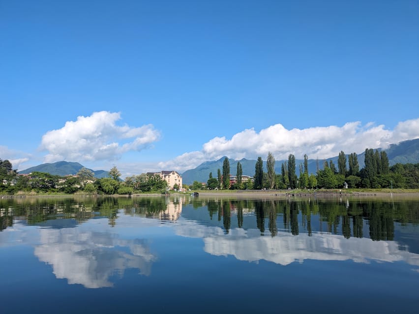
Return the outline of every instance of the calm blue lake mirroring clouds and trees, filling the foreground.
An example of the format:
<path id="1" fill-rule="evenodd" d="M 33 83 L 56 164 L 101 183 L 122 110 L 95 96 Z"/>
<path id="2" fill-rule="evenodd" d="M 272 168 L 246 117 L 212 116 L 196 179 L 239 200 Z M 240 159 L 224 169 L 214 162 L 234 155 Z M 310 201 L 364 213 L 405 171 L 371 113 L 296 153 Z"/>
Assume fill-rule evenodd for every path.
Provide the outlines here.
<path id="1" fill-rule="evenodd" d="M 0 200 L 0 312 L 419 313 L 419 199 Z"/>

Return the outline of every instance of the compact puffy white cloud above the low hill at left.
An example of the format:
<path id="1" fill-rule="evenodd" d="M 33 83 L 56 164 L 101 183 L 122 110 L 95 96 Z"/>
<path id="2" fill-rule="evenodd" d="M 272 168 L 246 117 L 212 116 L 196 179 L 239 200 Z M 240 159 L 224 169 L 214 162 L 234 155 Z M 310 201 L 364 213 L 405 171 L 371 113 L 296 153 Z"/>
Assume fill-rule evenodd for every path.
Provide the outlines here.
<path id="1" fill-rule="evenodd" d="M 41 149 L 49 152 L 45 162 L 59 160 L 116 160 L 128 151 L 140 151 L 159 140 L 152 125 L 118 126 L 119 112 L 100 111 L 67 121 L 59 130 L 42 136 Z"/>

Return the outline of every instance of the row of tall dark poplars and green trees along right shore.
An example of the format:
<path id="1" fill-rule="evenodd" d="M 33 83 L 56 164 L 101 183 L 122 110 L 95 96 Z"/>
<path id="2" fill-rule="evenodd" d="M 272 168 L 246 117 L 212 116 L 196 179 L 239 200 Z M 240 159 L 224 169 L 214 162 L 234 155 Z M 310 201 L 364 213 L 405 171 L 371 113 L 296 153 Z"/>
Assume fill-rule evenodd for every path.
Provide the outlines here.
<path id="1" fill-rule="evenodd" d="M 389 158 L 385 151 L 366 149 L 365 166 L 359 169 L 357 153 L 346 155 L 339 153 L 337 167 L 332 159 L 324 160 L 322 169 L 317 160 L 316 174 L 308 173 L 308 156 L 299 164 L 297 176 L 296 158 L 293 154 L 281 164 L 281 173 L 275 173 L 275 158 L 269 152 L 266 168 L 263 169 L 262 157 L 258 157 L 255 164 L 253 180 L 242 180 L 242 167 L 237 163 L 236 181 L 230 182 L 230 164 L 226 157 L 223 161 L 222 174 L 218 169 L 218 177 L 210 178 L 206 188 L 213 189 L 314 189 L 314 188 L 419 188 L 419 163 L 389 166 Z M 194 182 L 192 188 L 199 189 L 202 184 Z"/>

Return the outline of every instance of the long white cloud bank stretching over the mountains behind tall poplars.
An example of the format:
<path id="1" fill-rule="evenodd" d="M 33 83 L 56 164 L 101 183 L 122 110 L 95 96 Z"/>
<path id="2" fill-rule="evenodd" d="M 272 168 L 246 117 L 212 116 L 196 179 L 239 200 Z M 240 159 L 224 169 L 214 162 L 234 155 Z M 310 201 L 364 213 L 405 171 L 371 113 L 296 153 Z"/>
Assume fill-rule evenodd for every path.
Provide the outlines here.
<path id="1" fill-rule="evenodd" d="M 259 132 L 246 129 L 227 139 L 214 137 L 202 147 L 201 151 L 185 153 L 173 160 L 160 162 L 164 169 L 184 171 L 206 160 L 216 160 L 228 156 L 236 160 L 241 158 L 266 158 L 271 152 L 277 159 L 287 159 L 289 154 L 302 158 L 328 158 L 337 156 L 340 151 L 361 153 L 366 148 L 387 148 L 389 144 L 407 139 L 419 138 L 419 118 L 403 121 L 394 130 L 384 125 L 361 122 L 348 122 L 345 125 L 313 127 L 287 130 L 281 124 L 275 124 Z"/>

